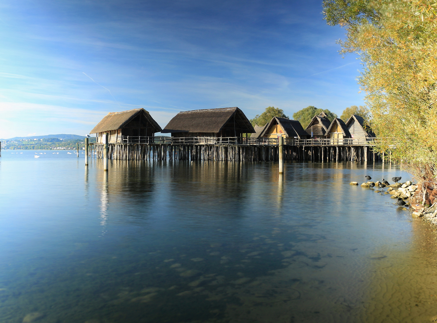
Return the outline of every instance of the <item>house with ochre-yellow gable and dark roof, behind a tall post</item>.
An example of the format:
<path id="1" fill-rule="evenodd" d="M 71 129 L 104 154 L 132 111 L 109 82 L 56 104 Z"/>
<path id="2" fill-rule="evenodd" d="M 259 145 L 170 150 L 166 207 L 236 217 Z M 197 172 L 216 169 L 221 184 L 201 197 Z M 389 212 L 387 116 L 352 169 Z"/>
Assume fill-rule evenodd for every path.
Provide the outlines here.
<path id="1" fill-rule="evenodd" d="M 287 139 L 308 139 L 309 137 L 297 120 L 273 117 L 260 137 L 279 138 L 280 136 Z"/>

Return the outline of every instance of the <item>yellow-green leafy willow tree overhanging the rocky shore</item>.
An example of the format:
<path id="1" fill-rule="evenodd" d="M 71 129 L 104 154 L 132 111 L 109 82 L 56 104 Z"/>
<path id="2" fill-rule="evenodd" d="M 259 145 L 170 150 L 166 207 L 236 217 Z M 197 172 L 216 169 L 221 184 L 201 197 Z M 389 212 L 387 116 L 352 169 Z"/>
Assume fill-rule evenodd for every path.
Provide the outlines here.
<path id="1" fill-rule="evenodd" d="M 328 24 L 346 30 L 341 53 L 357 53 L 381 140 L 377 149 L 409 171 L 428 204 L 437 196 L 437 3 L 324 0 Z"/>

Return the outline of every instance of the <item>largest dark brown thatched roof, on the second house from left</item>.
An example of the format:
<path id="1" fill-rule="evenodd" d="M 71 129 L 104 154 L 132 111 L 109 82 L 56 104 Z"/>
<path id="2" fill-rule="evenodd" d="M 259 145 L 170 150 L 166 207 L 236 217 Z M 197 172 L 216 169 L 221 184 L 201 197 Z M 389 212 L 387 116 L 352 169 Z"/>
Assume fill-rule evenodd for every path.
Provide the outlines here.
<path id="1" fill-rule="evenodd" d="M 219 133 L 228 121 L 234 120 L 234 117 L 236 128 L 241 129 L 243 133 L 255 132 L 249 119 L 237 107 L 182 111 L 170 120 L 162 132 Z"/>

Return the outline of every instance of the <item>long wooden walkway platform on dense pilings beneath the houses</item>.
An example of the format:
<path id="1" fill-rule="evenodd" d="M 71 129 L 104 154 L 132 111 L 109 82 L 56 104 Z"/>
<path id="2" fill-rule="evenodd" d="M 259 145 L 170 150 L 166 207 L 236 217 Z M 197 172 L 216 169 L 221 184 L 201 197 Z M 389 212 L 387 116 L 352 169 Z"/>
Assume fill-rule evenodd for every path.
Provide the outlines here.
<path id="1" fill-rule="evenodd" d="M 277 161 L 276 138 L 129 137 L 108 144 L 115 160 Z M 374 140 L 284 139 L 284 160 L 379 161 Z M 102 158 L 103 144 L 91 146 L 91 157 Z"/>

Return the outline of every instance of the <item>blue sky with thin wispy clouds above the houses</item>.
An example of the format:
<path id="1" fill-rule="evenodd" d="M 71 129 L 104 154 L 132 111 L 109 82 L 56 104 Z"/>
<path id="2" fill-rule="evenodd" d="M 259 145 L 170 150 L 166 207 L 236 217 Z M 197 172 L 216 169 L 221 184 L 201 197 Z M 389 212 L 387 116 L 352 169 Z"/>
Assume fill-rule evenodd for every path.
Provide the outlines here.
<path id="1" fill-rule="evenodd" d="M 364 104 L 361 65 L 321 12 L 321 0 L 3 0 L 0 138 L 85 135 L 140 107 L 162 127 L 203 108 L 340 115 Z"/>

